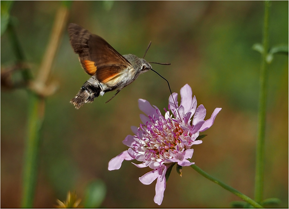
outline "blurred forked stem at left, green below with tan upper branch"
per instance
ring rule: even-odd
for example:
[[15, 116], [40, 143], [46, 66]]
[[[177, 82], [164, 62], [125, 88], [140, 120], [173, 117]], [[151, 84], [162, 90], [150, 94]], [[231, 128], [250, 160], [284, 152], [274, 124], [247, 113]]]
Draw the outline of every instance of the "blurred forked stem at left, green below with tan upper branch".
[[[42, 128], [42, 122], [45, 113], [45, 98], [44, 96], [53, 93], [51, 87], [46, 86], [47, 78], [51, 71], [51, 66], [57, 48], [60, 43], [60, 37], [66, 26], [68, 19], [68, 8], [62, 6], [59, 8], [49, 44], [47, 46], [45, 56], [42, 59], [42, 64], [39, 69], [38, 77], [36, 80], [32, 80], [32, 74], [29, 69], [22, 70], [22, 77], [28, 84], [28, 119], [27, 119], [27, 136], [26, 136], [26, 148], [23, 167], [23, 191], [22, 191], [22, 208], [32, 208], [34, 201], [34, 194], [37, 182], [37, 170], [39, 159], [39, 147], [40, 147], [40, 134]], [[8, 33], [11, 40], [12, 47], [14, 49], [17, 62], [25, 61], [23, 51], [21, 50], [20, 43], [17, 39], [14, 27], [9, 22]], [[49, 92], [49, 93], [47, 93]]]

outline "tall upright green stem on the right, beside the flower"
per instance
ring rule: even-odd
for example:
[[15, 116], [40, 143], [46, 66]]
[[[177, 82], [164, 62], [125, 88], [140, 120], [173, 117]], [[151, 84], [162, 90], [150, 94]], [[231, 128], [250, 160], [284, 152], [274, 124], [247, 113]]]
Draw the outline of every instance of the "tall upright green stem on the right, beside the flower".
[[263, 53], [260, 70], [260, 93], [259, 93], [259, 109], [258, 109], [258, 138], [256, 146], [256, 171], [255, 171], [255, 201], [261, 202], [263, 199], [264, 185], [264, 144], [265, 144], [265, 124], [266, 124], [266, 101], [267, 101], [267, 85], [268, 70], [266, 57], [268, 55], [268, 24], [269, 24], [269, 7], [270, 2], [265, 1], [264, 12], [264, 29], [263, 29]]

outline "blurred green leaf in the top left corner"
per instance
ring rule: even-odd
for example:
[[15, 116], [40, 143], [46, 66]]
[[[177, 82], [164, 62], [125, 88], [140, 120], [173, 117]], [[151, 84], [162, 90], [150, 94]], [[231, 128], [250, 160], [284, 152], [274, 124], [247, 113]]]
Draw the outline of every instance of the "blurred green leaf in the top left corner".
[[7, 29], [12, 4], [13, 1], [0, 1], [0, 35], [2, 35]]

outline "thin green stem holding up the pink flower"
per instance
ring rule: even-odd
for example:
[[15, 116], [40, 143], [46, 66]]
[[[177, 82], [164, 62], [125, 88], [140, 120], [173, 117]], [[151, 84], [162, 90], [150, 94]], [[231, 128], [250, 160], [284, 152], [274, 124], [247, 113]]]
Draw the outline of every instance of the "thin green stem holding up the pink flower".
[[204, 176], [205, 178], [211, 180], [212, 182], [218, 184], [219, 186], [223, 187], [224, 189], [228, 190], [229, 192], [237, 195], [238, 197], [240, 197], [241, 199], [243, 199], [244, 201], [246, 201], [247, 203], [251, 204], [252, 206], [254, 206], [255, 208], [263, 208], [260, 204], [258, 204], [257, 202], [255, 202], [253, 199], [251, 199], [250, 197], [247, 197], [246, 195], [244, 195], [243, 193], [239, 192], [238, 190], [234, 189], [233, 187], [230, 187], [229, 185], [221, 182], [220, 180], [214, 178], [213, 176], [209, 175], [208, 173], [206, 173], [205, 171], [203, 171], [201, 168], [199, 168], [197, 165], [193, 164], [190, 165], [195, 171], [197, 171], [199, 174], [201, 174], [202, 176]]

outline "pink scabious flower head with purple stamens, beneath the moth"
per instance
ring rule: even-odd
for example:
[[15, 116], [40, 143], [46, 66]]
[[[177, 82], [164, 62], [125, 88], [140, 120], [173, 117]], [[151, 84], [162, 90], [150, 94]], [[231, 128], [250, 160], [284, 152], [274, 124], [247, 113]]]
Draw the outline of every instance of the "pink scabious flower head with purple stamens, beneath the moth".
[[[181, 103], [178, 106], [177, 93], [169, 97], [168, 111], [163, 116], [156, 106], [144, 100], [138, 100], [138, 106], [144, 114], [140, 114], [142, 123], [140, 127], [131, 127], [134, 135], [128, 135], [123, 144], [128, 150], [123, 151], [108, 163], [108, 170], [116, 170], [121, 167], [123, 160], [136, 159], [142, 163], [137, 167], [149, 166], [152, 171], [140, 177], [143, 184], [151, 184], [155, 179], [154, 202], [162, 203], [164, 190], [166, 189], [166, 172], [175, 163], [178, 166], [189, 166], [193, 155], [194, 144], [201, 144], [196, 140], [199, 133], [210, 128], [221, 108], [216, 108], [208, 120], [204, 120], [206, 109], [203, 105], [197, 108], [197, 100], [192, 98], [192, 89], [186, 84], [181, 88]], [[173, 98], [176, 104], [173, 101]], [[192, 118], [192, 116], [194, 117]]]

